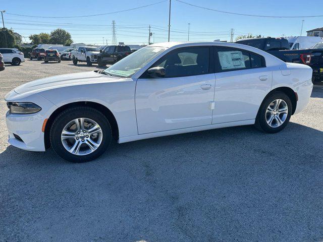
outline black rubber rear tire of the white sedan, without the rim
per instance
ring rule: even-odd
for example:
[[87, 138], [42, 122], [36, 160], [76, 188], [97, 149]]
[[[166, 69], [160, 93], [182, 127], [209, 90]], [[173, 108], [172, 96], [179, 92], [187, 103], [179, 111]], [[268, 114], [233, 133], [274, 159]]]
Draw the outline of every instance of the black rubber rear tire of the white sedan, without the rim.
[[[287, 104], [287, 107], [288, 107], [288, 112], [287, 112], [286, 119], [284, 120], [284, 123], [282, 125], [274, 128], [274, 127], [271, 127], [270, 125], [267, 124], [266, 110], [267, 110], [267, 107], [274, 100], [277, 100], [277, 99], [282, 99], [285, 101], [285, 103]], [[281, 130], [283, 130], [287, 126], [289, 119], [291, 118], [291, 115], [292, 115], [292, 108], [293, 108], [292, 102], [291, 102], [290, 98], [284, 92], [276, 91], [276, 92], [268, 94], [265, 97], [265, 99], [262, 101], [261, 106], [258, 110], [256, 120], [255, 120], [255, 127], [258, 130], [266, 132], [266, 133], [280, 132]]]

